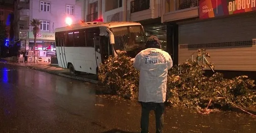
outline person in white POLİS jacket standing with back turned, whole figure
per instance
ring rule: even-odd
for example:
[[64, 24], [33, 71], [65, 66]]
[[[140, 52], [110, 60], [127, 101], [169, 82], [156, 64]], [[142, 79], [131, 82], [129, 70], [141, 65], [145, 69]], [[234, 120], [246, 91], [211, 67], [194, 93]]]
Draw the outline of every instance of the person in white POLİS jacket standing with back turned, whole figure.
[[141, 133], [148, 133], [149, 113], [155, 111], [156, 133], [162, 133], [164, 125], [167, 70], [172, 67], [169, 53], [162, 51], [156, 36], [150, 36], [133, 60], [133, 67], [140, 71], [139, 99], [142, 106]]

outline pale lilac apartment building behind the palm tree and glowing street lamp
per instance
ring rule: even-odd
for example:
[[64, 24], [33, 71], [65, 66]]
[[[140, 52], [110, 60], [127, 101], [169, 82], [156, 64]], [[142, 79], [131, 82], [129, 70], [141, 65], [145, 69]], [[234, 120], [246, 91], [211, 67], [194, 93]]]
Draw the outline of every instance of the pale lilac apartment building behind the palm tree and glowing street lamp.
[[81, 6], [76, 5], [76, 0], [17, 0], [15, 14], [18, 31], [15, 37], [21, 41], [20, 49], [29, 50], [33, 54], [35, 43], [30, 21], [39, 19], [41, 24], [35, 50], [42, 51], [38, 54], [40, 57], [50, 57], [55, 56], [56, 50], [54, 30], [67, 24], [79, 23]]

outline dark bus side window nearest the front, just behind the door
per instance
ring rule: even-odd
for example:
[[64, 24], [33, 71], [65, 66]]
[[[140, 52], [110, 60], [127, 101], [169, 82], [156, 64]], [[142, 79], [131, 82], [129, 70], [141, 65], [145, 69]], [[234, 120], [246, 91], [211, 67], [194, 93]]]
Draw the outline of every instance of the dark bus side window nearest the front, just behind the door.
[[99, 36], [100, 29], [99, 28], [89, 28], [86, 29], [86, 46], [94, 47], [94, 36]]

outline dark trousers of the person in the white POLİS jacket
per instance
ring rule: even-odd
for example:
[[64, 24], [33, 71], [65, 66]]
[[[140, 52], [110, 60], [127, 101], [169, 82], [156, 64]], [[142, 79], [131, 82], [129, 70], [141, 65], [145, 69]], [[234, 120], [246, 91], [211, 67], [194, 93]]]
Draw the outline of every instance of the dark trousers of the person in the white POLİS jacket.
[[151, 110], [155, 111], [155, 128], [156, 133], [162, 133], [164, 126], [164, 109], [165, 103], [154, 103], [154, 102], [140, 102], [141, 104], [141, 119], [140, 119], [140, 128], [141, 133], [148, 133], [148, 124], [149, 124], [149, 113]]

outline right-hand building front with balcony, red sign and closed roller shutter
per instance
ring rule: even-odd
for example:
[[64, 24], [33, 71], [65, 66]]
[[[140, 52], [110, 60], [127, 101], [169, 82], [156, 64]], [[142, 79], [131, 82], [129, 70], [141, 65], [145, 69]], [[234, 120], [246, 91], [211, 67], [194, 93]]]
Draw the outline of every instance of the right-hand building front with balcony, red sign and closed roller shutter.
[[255, 0], [237, 1], [165, 0], [162, 22], [176, 64], [205, 48], [216, 70], [256, 71]]

